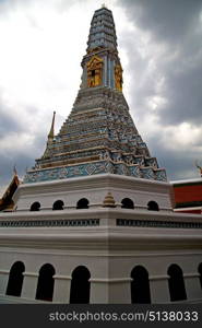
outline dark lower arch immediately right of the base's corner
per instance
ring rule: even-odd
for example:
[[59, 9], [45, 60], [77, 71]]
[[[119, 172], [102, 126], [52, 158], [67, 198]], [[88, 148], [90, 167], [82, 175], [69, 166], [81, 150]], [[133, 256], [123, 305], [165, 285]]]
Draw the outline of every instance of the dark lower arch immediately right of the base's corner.
[[132, 304], [151, 303], [148, 272], [142, 266], [136, 266], [131, 271], [131, 302]]

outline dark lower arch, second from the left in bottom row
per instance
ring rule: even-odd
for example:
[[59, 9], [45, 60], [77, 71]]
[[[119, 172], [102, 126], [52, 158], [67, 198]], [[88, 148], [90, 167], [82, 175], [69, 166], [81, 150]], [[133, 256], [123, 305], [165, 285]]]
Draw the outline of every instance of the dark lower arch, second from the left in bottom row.
[[55, 283], [52, 276], [55, 273], [55, 268], [49, 263], [46, 263], [40, 268], [36, 290], [36, 300], [52, 301]]

